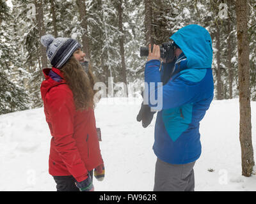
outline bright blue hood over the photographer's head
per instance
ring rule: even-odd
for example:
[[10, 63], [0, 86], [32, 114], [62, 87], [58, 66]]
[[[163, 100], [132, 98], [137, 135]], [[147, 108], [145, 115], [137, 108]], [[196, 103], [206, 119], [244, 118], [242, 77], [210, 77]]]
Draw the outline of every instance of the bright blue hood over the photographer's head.
[[211, 68], [212, 40], [208, 31], [200, 25], [182, 27], [170, 37], [187, 57], [188, 68]]

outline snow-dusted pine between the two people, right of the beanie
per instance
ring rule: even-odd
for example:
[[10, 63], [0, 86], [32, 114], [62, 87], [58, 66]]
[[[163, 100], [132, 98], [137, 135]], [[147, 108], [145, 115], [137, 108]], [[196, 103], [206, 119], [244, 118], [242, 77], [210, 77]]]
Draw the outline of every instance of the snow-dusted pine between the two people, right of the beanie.
[[121, 62], [118, 49], [118, 17], [109, 0], [93, 1], [87, 6], [92, 65], [100, 81], [108, 84], [108, 77], [116, 78]]

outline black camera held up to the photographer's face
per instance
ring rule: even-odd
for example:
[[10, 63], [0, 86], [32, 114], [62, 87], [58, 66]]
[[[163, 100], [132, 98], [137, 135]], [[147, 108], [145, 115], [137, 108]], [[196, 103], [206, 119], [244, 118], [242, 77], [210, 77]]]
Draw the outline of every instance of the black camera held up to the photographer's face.
[[[151, 48], [151, 52], [153, 47]], [[140, 47], [140, 56], [147, 57], [148, 56], [148, 47]], [[160, 47], [160, 56], [162, 59], [166, 61], [173, 61], [174, 59], [174, 42], [169, 41], [167, 43], [163, 43]]]

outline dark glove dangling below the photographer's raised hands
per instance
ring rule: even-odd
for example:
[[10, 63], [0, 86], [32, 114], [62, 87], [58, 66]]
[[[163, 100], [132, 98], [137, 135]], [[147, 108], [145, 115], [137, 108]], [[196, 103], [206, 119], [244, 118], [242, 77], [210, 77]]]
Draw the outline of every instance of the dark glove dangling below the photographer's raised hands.
[[140, 112], [137, 115], [137, 121], [140, 122], [142, 120], [142, 127], [147, 128], [154, 117], [154, 113], [150, 111], [150, 106], [141, 103]]

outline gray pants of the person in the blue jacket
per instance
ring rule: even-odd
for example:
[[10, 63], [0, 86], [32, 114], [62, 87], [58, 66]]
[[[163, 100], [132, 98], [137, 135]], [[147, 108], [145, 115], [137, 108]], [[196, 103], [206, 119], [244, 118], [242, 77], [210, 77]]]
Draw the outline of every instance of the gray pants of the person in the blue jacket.
[[169, 164], [157, 158], [154, 191], [194, 191], [195, 163]]

